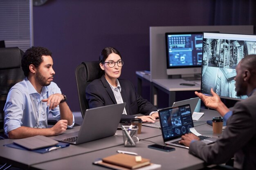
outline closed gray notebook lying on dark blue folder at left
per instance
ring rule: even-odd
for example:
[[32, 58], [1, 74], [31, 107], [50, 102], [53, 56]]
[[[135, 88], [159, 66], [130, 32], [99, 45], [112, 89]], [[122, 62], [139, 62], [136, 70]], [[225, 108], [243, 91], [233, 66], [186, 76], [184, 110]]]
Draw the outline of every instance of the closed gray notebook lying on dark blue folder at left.
[[50, 139], [45, 136], [37, 135], [33, 137], [13, 140], [13, 143], [23, 146], [28, 150], [36, 150], [36, 149], [45, 148], [48, 146], [54, 146], [58, 144], [58, 141]]

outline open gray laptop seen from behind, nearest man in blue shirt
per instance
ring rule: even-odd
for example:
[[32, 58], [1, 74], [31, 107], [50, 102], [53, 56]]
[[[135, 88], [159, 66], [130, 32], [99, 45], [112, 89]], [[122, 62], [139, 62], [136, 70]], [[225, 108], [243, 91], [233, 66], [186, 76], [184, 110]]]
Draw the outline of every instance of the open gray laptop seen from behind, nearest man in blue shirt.
[[79, 132], [59, 135], [54, 139], [77, 145], [115, 135], [125, 105], [124, 102], [87, 109]]

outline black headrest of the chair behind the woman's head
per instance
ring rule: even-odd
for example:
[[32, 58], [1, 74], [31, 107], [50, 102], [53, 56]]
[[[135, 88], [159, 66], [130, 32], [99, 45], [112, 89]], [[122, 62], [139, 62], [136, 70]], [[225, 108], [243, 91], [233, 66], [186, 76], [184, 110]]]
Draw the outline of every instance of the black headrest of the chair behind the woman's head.
[[99, 79], [101, 77], [102, 70], [99, 66], [98, 61], [82, 62], [82, 64], [85, 64], [85, 68], [87, 71], [86, 82], [92, 82], [94, 79]]

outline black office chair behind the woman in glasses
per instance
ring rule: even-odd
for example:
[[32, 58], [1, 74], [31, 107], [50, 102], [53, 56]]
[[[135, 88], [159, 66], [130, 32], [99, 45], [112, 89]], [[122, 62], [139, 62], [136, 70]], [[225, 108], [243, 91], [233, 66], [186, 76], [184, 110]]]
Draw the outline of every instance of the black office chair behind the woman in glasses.
[[84, 116], [85, 110], [89, 108], [88, 101], [85, 97], [85, 89], [90, 82], [94, 79], [99, 79], [103, 73], [98, 61], [82, 62], [76, 67], [76, 85], [82, 117]]

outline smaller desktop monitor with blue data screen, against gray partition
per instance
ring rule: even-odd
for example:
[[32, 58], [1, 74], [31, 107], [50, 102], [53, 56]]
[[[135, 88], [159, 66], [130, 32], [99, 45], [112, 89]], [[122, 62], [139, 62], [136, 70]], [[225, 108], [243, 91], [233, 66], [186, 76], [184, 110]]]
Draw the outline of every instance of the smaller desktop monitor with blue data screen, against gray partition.
[[167, 75], [201, 73], [202, 32], [165, 33]]

